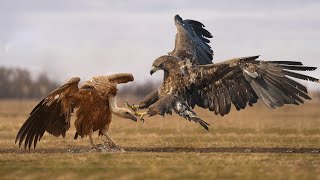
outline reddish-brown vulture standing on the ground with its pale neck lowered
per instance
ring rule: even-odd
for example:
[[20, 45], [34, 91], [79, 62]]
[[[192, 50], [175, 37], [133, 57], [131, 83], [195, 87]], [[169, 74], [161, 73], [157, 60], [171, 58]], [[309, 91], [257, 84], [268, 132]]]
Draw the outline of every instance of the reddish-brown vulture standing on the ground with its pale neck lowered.
[[93, 132], [99, 130], [99, 136], [106, 137], [106, 145], [114, 149], [120, 148], [108, 134], [108, 129], [112, 114], [137, 121], [134, 112], [127, 107], [118, 107], [116, 100], [117, 84], [133, 80], [132, 74], [128, 73], [96, 76], [79, 88], [80, 78], [71, 78], [34, 107], [20, 128], [15, 142], [19, 141], [19, 147], [24, 142], [24, 148], [30, 150], [32, 144], [36, 148], [45, 131], [64, 138], [70, 128], [71, 115], [77, 108], [74, 139], [89, 136], [93, 148], [101, 151], [102, 148], [92, 139]]

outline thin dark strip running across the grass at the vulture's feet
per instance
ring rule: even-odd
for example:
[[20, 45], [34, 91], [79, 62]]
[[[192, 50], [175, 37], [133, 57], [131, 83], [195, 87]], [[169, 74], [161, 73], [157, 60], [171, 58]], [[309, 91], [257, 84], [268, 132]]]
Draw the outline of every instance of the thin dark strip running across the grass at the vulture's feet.
[[[154, 153], [294, 153], [320, 154], [320, 148], [285, 148], [285, 147], [123, 147], [126, 152], [154, 152]], [[24, 150], [18, 148], [0, 148], [0, 154], [55, 154], [55, 153], [88, 153], [95, 152], [88, 147], [71, 148], [41, 148]]]

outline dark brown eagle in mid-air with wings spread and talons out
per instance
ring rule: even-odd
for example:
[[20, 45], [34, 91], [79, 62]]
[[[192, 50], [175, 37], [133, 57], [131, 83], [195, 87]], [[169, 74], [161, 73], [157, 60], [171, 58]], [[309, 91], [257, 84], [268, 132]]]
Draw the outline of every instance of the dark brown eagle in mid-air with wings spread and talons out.
[[[253, 106], [260, 99], [268, 108], [285, 104], [299, 105], [310, 100], [307, 88], [293, 78], [318, 82], [319, 79], [294, 71], [313, 71], [297, 61], [264, 61], [259, 56], [233, 58], [212, 63], [212, 35], [196, 20], [174, 17], [177, 28], [174, 50], [157, 58], [150, 74], [164, 71], [159, 89], [148, 94], [138, 105], [130, 105], [136, 115], [171, 114], [172, 111], [208, 130], [209, 124], [193, 108], [214, 111], [224, 116], [232, 104], [237, 110]], [[139, 109], [147, 112], [138, 112]]]

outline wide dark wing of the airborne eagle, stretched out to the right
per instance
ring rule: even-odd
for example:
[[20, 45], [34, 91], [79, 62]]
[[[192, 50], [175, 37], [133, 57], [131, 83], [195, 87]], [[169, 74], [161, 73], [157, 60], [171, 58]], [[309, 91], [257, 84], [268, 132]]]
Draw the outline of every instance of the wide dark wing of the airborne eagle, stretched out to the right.
[[225, 115], [231, 103], [237, 110], [261, 99], [269, 108], [284, 104], [300, 104], [311, 99], [305, 86], [291, 77], [319, 82], [319, 79], [293, 71], [313, 71], [316, 67], [303, 66], [295, 61], [259, 61], [259, 56], [236, 58], [214, 65], [194, 68], [194, 91], [189, 95], [191, 106], [197, 104], [216, 114]]

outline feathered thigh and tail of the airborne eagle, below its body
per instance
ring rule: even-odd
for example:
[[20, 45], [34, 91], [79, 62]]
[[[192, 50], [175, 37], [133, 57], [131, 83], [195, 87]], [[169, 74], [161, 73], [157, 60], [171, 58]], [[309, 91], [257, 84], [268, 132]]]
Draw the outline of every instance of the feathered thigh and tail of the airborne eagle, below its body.
[[148, 109], [148, 114], [150, 116], [157, 114], [164, 116], [165, 114], [172, 114], [172, 110], [189, 121], [199, 123], [206, 130], [209, 129], [208, 126], [210, 124], [199, 118], [182, 98], [171, 94], [161, 97], [156, 103], [151, 105]]

